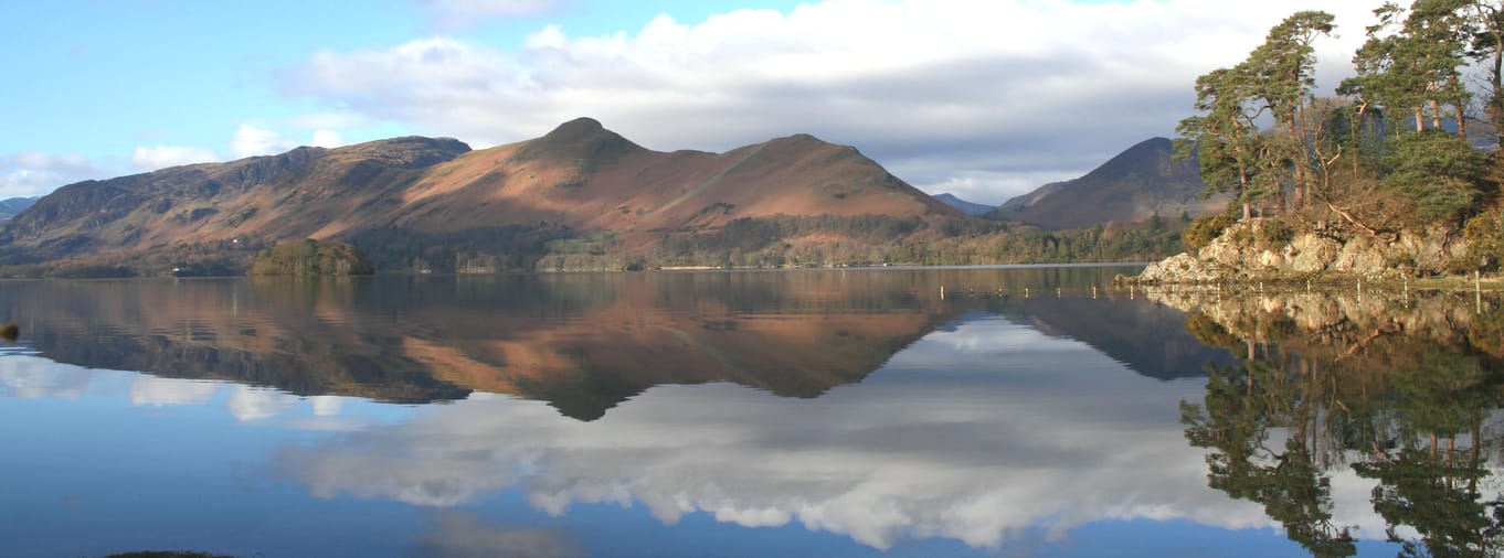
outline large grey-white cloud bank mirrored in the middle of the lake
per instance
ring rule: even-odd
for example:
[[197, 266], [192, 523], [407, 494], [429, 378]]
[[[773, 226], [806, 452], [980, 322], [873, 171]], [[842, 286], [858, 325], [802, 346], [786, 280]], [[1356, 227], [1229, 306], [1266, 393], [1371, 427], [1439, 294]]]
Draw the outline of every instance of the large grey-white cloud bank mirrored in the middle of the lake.
[[1021, 339], [1030, 333], [966, 322], [948, 334], [1009, 348], [952, 351], [935, 369], [946, 348], [926, 338], [862, 384], [814, 400], [660, 386], [581, 423], [534, 402], [471, 399], [290, 447], [280, 460], [319, 496], [457, 506], [520, 486], [552, 514], [641, 502], [666, 524], [686, 513], [799, 522], [874, 548], [902, 537], [996, 548], [1029, 530], [1062, 537], [1102, 519], [1274, 525], [1259, 506], [1206, 488], [1203, 453], [1178, 422], [1179, 400], [1199, 399], [1200, 382], [1142, 378], [1081, 345], [1062, 354], [1060, 340]]

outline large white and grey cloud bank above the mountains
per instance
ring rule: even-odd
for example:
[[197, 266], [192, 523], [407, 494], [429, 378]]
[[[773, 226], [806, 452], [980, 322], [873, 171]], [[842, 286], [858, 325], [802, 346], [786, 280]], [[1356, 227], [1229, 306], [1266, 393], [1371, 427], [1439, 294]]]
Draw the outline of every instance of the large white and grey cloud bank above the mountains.
[[[663, 150], [811, 132], [911, 168], [898, 174], [910, 183], [972, 177], [975, 196], [1002, 201], [1039, 186], [1030, 180], [1041, 172], [1080, 176], [1172, 134], [1197, 75], [1241, 62], [1305, 8], [829, 0], [695, 24], [659, 16], [635, 33], [573, 38], [549, 26], [516, 51], [445, 36], [322, 51], [286, 87], [478, 146], [578, 116]], [[1322, 8], [1342, 26], [1342, 39], [1321, 44], [1330, 88], [1373, 6]]]

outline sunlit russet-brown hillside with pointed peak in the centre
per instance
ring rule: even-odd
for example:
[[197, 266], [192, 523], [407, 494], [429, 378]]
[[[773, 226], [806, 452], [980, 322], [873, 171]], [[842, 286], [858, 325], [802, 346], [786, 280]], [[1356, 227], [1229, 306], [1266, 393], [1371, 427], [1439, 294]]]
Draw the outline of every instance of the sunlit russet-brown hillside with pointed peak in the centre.
[[[615, 231], [629, 246], [737, 218], [958, 216], [856, 148], [809, 135], [728, 153], [662, 153], [590, 118], [439, 165], [394, 212], [399, 226], [424, 232], [477, 222], [550, 222]], [[343, 231], [331, 225], [320, 234]]]

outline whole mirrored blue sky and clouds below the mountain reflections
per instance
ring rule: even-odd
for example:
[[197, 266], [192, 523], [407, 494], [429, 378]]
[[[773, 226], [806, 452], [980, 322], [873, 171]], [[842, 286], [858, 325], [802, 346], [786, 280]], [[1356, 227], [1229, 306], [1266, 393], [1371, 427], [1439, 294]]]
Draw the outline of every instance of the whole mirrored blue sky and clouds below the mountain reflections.
[[[0, 540], [23, 556], [1304, 554], [1208, 488], [1179, 414], [1205, 378], [1134, 370], [1048, 300], [988, 304], [818, 396], [696, 378], [591, 420], [483, 390], [417, 405], [86, 368], [23, 342], [0, 351], [0, 422], [20, 426], [0, 429]], [[1393, 555], [1375, 482], [1339, 468], [1331, 486], [1361, 555]]]

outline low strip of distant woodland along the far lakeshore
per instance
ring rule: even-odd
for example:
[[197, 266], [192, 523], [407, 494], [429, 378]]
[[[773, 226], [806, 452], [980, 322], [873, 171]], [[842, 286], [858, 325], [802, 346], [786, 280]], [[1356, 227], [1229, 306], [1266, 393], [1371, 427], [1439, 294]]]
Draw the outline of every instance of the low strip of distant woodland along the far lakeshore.
[[645, 249], [624, 246], [614, 232], [555, 226], [505, 228], [487, 242], [408, 237], [364, 244], [381, 246], [368, 252], [381, 270], [441, 273], [1146, 261], [1179, 252], [1190, 220], [1182, 214], [1047, 231], [981, 218], [773, 216], [662, 231]]

